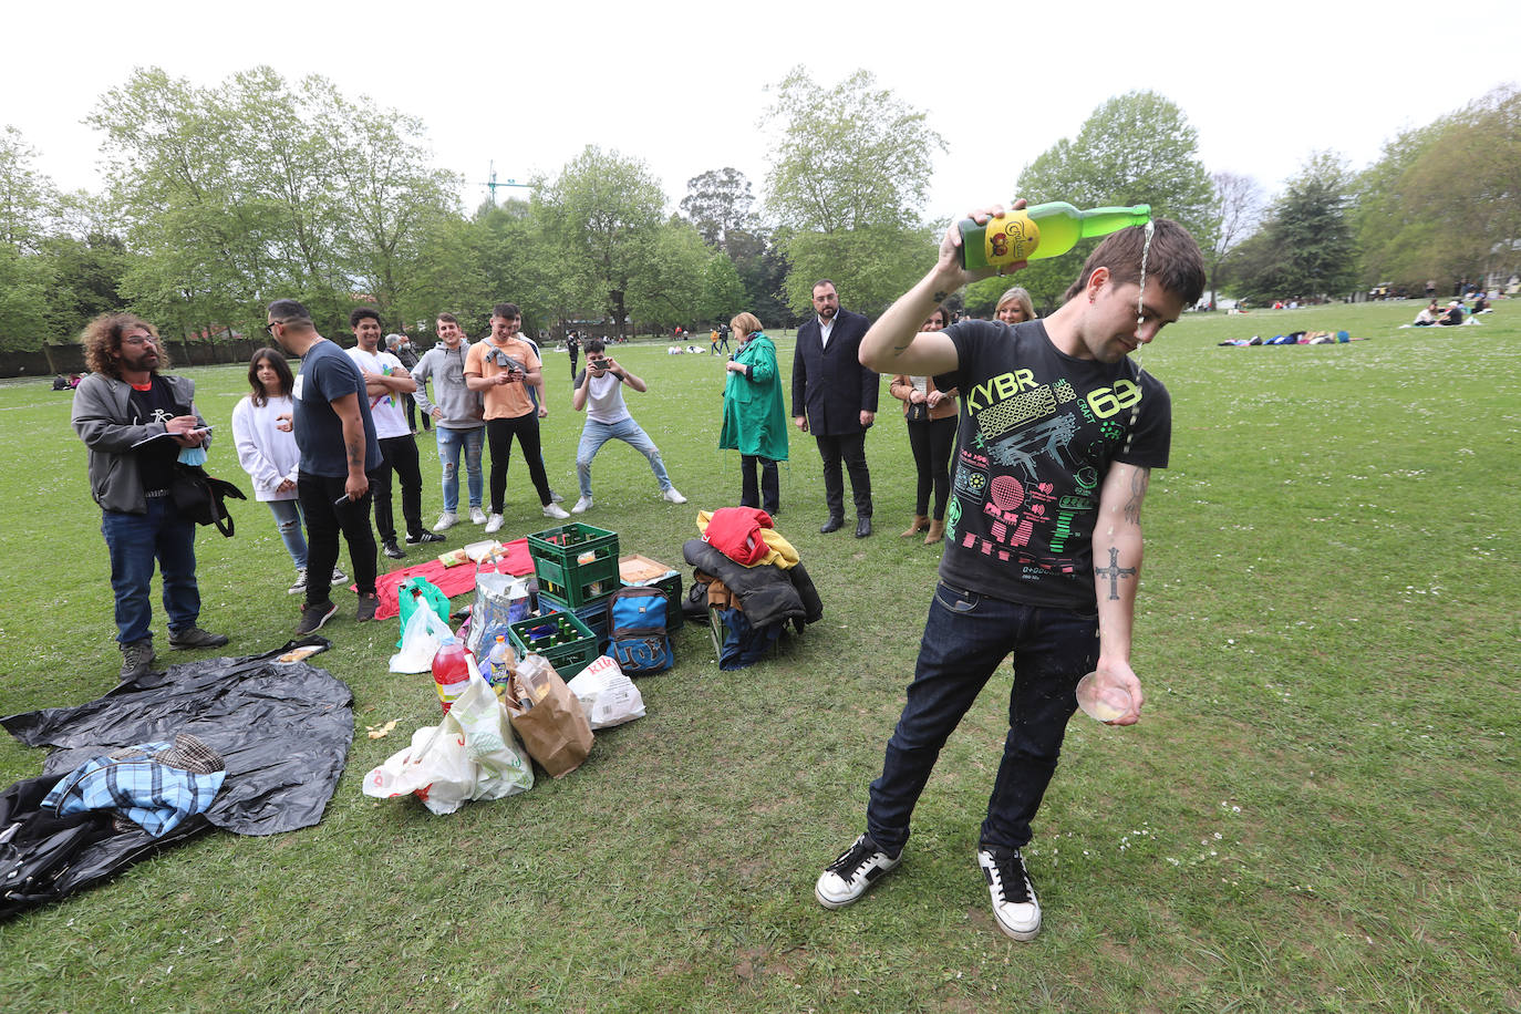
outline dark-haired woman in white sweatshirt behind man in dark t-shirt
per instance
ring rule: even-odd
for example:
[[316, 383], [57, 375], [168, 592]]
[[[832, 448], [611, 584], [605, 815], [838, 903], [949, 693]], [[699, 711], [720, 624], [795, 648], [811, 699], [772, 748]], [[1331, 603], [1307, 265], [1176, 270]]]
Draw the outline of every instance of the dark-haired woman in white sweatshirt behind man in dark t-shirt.
[[[301, 452], [291, 432], [294, 406], [291, 389], [295, 379], [284, 353], [260, 348], [248, 363], [248, 394], [233, 407], [233, 442], [237, 464], [254, 480], [254, 499], [269, 505], [275, 528], [291, 561], [295, 584], [286, 591], [306, 591], [306, 535], [301, 531], [301, 503], [297, 500], [295, 479]], [[333, 567], [333, 584], [348, 581], [348, 575]]]

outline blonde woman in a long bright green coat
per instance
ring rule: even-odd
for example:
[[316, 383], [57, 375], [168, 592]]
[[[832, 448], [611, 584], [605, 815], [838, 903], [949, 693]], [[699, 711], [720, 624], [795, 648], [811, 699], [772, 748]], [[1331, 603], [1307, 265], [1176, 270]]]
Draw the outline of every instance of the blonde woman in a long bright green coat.
[[780, 509], [776, 462], [786, 461], [786, 412], [776, 345], [760, 330], [754, 313], [741, 313], [729, 327], [739, 347], [726, 363], [729, 382], [718, 445], [739, 452], [739, 505], [776, 514]]

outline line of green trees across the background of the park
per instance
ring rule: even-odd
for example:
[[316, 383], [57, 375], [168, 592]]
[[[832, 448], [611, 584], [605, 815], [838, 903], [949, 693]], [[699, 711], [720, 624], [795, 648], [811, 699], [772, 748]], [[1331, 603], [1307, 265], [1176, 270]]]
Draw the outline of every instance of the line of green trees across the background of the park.
[[[946, 225], [923, 211], [945, 141], [867, 71], [824, 87], [795, 68], [771, 91], [760, 196], [715, 167], [674, 198], [636, 155], [589, 144], [554, 176], [465, 208], [464, 176], [432, 164], [418, 117], [321, 76], [256, 67], [196, 87], [138, 68], [88, 117], [102, 193], [59, 192], [26, 138], [0, 129], [0, 356], [41, 362], [44, 347], [123, 307], [170, 339], [252, 341], [278, 296], [303, 299], [329, 333], [370, 303], [386, 330], [424, 347], [438, 312], [481, 334], [500, 299], [555, 337], [669, 333], [742, 309], [789, 327], [820, 277], [878, 313], [923, 272]], [[1185, 112], [1133, 91], [1025, 166], [1018, 193], [1150, 204], [1205, 246], [1211, 298], [1504, 284], [1521, 266], [1521, 91], [1408, 129], [1361, 170], [1311, 152], [1275, 195], [1211, 173]], [[1042, 261], [1021, 283], [1048, 310], [1069, 275], [1071, 263]], [[1001, 289], [992, 278], [957, 303], [987, 312]]]

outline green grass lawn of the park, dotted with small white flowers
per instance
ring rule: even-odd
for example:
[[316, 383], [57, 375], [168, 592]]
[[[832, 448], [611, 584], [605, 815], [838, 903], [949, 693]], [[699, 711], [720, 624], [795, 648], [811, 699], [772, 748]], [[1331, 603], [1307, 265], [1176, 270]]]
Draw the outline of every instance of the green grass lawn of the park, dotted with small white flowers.
[[[567, 778], [441, 818], [360, 794], [438, 701], [430, 678], [386, 672], [395, 623], [356, 623], [344, 593], [316, 661], [353, 689], [359, 736], [324, 821], [210, 833], [0, 924], [0, 1008], [1521, 1009], [1521, 304], [1398, 330], [1418, 309], [1189, 316], [1144, 351], [1174, 401], [1144, 518], [1148, 701], [1129, 730], [1072, 719], [1028, 850], [1034, 943], [998, 933], [975, 865], [1007, 670], [948, 743], [903, 867], [850, 909], [812, 898], [862, 825], [938, 559], [896, 538], [913, 465], [884, 383], [870, 540], [818, 534], [818, 458], [794, 438], [779, 528], [826, 616], [780, 657], [722, 673], [687, 625], [675, 669], [640, 681], [648, 718], [599, 734]], [[1215, 345], [1302, 328], [1370, 341]], [[692, 502], [659, 500], [614, 442], [586, 520], [681, 564], [697, 508], [739, 494], [738, 458], [715, 450], [721, 360], [616, 354], [649, 382], [630, 407]], [[245, 479], [243, 368], [186, 372], [225, 435], [213, 473]], [[546, 374], [545, 459], [569, 503], [566, 357]], [[68, 395], [0, 386], [0, 713], [88, 701], [120, 655]], [[420, 445], [432, 521], [438, 461]], [[520, 461], [508, 500], [503, 537], [551, 524]], [[234, 511], [236, 538], [198, 540], [202, 623], [254, 654], [291, 635], [297, 597], [266, 508]], [[155, 622], [163, 651], [157, 602]], [[6, 784], [41, 762], [0, 740]]]

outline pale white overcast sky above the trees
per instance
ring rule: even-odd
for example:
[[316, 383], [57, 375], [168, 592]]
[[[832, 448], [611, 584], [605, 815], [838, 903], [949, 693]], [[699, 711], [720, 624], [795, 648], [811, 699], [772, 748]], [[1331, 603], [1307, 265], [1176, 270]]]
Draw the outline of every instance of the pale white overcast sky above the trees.
[[[1110, 96], [1150, 88], [1199, 131], [1211, 172], [1273, 193], [1319, 149], [1352, 169], [1384, 141], [1521, 78], [1521, 3], [27, 3], [5, 15], [0, 123], [37, 167], [100, 190], [81, 120], [134, 67], [213, 85], [269, 64], [415, 114], [467, 208], [499, 179], [555, 175], [587, 143], [648, 163], [672, 204], [735, 166], [762, 192], [759, 122], [794, 65], [853, 70], [948, 141], [931, 217], [1013, 198], [1021, 169]], [[1024, 196], [1024, 195], [1022, 195]], [[1062, 195], [1027, 195], [1060, 199]]]

